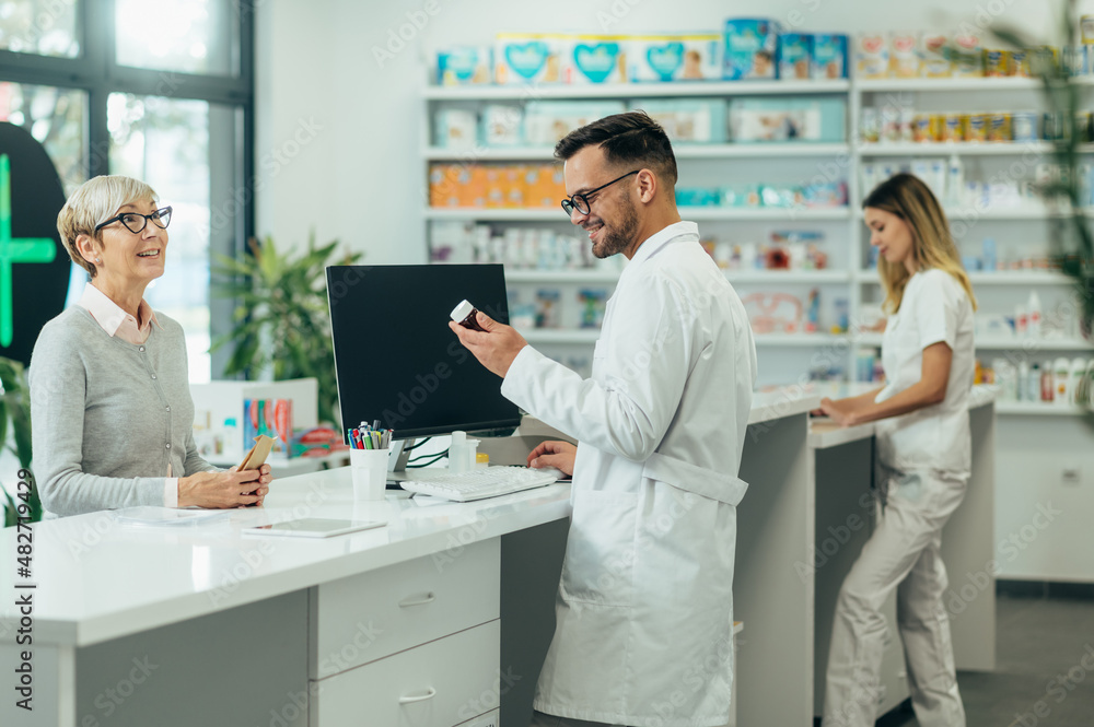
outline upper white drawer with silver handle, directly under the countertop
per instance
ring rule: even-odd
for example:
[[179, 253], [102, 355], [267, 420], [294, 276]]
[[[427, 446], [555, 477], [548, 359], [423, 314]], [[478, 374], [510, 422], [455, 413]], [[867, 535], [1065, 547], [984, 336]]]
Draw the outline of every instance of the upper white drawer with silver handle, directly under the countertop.
[[309, 677], [329, 677], [499, 618], [500, 539], [442, 555], [311, 589]]

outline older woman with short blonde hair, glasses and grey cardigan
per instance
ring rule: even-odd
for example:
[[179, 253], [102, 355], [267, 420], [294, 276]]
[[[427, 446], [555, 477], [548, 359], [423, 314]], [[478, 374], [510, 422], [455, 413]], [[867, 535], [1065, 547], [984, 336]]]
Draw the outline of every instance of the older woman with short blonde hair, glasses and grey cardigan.
[[268, 465], [221, 471], [194, 445], [183, 329], [143, 300], [163, 274], [170, 220], [151, 187], [123, 176], [86, 181], [57, 216], [91, 283], [31, 357], [34, 471], [56, 515], [260, 505], [269, 492]]

